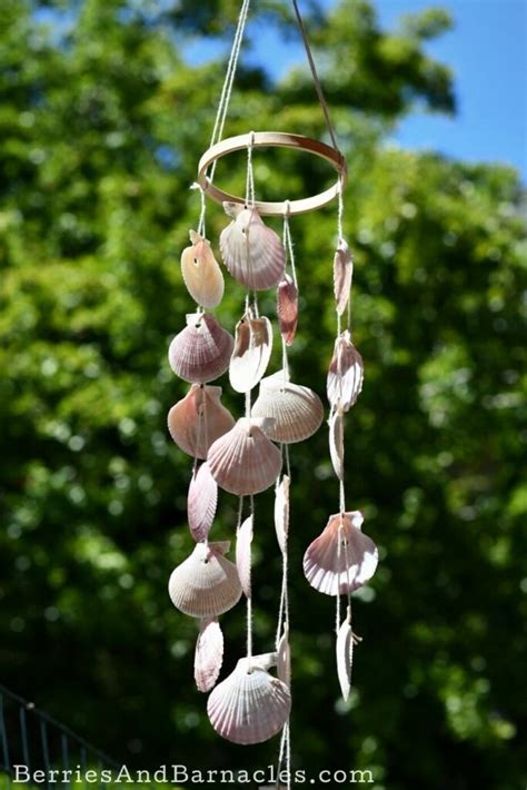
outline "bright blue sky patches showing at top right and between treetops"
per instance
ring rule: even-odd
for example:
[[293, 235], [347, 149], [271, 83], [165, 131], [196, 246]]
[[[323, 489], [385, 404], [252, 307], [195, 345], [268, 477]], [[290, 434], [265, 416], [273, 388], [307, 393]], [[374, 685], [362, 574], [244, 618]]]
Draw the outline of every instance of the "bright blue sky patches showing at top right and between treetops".
[[[324, 0], [330, 7], [335, 0]], [[347, 0], [352, 2], [352, 0]], [[454, 71], [458, 112], [454, 119], [414, 112], [395, 140], [468, 161], [514, 165], [527, 181], [527, 0], [377, 0], [381, 27], [430, 6], [446, 8], [454, 29], [427, 51]], [[213, 55], [203, 41], [189, 50], [192, 60]], [[279, 75], [304, 58], [301, 43], [268, 34], [251, 60]]]

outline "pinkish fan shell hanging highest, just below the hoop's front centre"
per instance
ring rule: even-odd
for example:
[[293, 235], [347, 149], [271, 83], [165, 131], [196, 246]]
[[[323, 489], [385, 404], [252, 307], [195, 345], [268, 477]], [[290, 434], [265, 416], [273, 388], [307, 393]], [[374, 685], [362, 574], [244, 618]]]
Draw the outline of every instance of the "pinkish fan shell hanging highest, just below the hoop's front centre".
[[256, 208], [223, 204], [233, 220], [221, 233], [220, 249], [232, 277], [251, 290], [265, 290], [284, 277], [286, 250]]

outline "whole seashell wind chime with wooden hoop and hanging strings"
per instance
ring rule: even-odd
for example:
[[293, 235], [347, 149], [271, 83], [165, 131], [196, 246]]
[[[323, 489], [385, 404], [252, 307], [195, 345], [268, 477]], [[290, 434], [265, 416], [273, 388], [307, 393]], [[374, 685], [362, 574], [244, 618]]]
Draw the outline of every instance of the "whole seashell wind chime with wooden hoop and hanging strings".
[[[338, 244], [334, 259], [337, 337], [327, 377], [329, 450], [339, 481], [338, 512], [308, 546], [304, 573], [315, 590], [337, 601], [337, 672], [342, 695], [351, 685], [354, 645], [359, 638], [351, 628], [351, 593], [375, 573], [377, 549], [361, 532], [362, 515], [348, 511], [345, 497], [345, 414], [362, 387], [362, 359], [351, 339], [350, 294], [352, 258], [342, 236], [342, 192], [346, 162], [339, 152], [329, 120], [304, 23], [294, 7], [308, 53], [332, 145], [287, 132], [249, 132], [221, 139], [228, 102], [249, 10], [243, 0], [229, 61], [211, 146], [199, 164], [201, 216], [198, 230], [190, 230], [190, 246], [181, 255], [185, 285], [196, 302], [187, 325], [169, 348], [173, 373], [190, 384], [188, 394], [169, 412], [173, 442], [193, 458], [188, 490], [188, 523], [195, 549], [172, 572], [169, 594], [173, 605], [199, 621], [195, 679], [202, 692], [211, 692], [207, 711], [215, 730], [233, 743], [251, 744], [282, 732], [279, 761], [290, 763], [289, 715], [290, 650], [288, 606], [288, 533], [291, 475], [289, 445], [314, 435], [324, 421], [324, 405], [309, 387], [291, 381], [288, 347], [294, 343], [298, 318], [298, 280], [289, 219], [338, 198]], [[262, 203], [255, 199], [252, 150], [280, 146], [300, 148], [329, 161], [338, 174], [336, 184], [320, 195], [296, 201]], [[247, 190], [243, 198], [213, 185], [217, 160], [236, 150], [247, 150]], [[205, 234], [206, 196], [222, 203], [230, 223], [221, 233], [219, 248], [229, 275], [247, 289], [245, 308], [235, 336], [211, 313], [223, 296], [223, 275]], [[262, 216], [281, 216], [280, 238]], [[282, 366], [268, 373], [274, 330], [271, 320], [258, 310], [258, 293], [274, 288], [282, 346]], [[347, 314], [346, 327], [342, 319]], [[228, 372], [230, 386], [245, 395], [245, 416], [235, 421], [221, 404], [221, 387], [215, 382]], [[252, 393], [259, 387], [258, 397]], [[258, 533], [255, 496], [275, 486], [275, 526], [282, 555], [282, 586], [274, 650], [258, 654], [252, 645], [251, 543]], [[218, 488], [239, 497], [235, 561], [227, 557], [229, 541], [209, 541], [218, 504]], [[266, 517], [262, 517], [265, 521]], [[247, 651], [233, 672], [217, 683], [221, 670], [223, 636], [219, 616], [241, 598], [247, 604]], [[346, 612], [341, 616], [341, 596]], [[289, 787], [289, 784], [288, 784]]]

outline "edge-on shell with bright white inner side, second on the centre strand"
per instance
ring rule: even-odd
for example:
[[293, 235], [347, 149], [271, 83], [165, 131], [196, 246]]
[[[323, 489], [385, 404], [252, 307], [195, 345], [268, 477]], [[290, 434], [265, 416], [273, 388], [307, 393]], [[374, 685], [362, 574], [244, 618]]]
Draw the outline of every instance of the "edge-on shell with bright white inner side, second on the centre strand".
[[256, 387], [266, 372], [272, 350], [272, 326], [268, 318], [245, 316], [236, 327], [229, 379], [237, 393]]

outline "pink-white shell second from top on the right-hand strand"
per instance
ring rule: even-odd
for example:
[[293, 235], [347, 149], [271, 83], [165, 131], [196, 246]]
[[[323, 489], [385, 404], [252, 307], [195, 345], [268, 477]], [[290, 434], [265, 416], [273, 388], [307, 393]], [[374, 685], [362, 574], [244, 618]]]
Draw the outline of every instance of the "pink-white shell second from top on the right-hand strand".
[[334, 356], [328, 371], [327, 392], [331, 406], [336, 408], [340, 405], [342, 411], [348, 412], [360, 395], [362, 381], [362, 357], [346, 329], [335, 340]]

